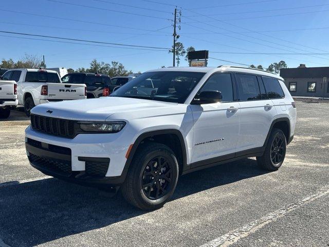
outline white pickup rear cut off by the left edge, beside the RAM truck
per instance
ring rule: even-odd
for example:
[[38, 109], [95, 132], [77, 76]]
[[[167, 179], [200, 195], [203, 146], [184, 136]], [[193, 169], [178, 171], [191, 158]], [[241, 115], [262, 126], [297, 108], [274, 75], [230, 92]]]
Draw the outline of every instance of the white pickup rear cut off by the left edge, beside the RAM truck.
[[15, 108], [18, 102], [17, 83], [0, 81], [0, 118], [8, 118], [11, 108]]

